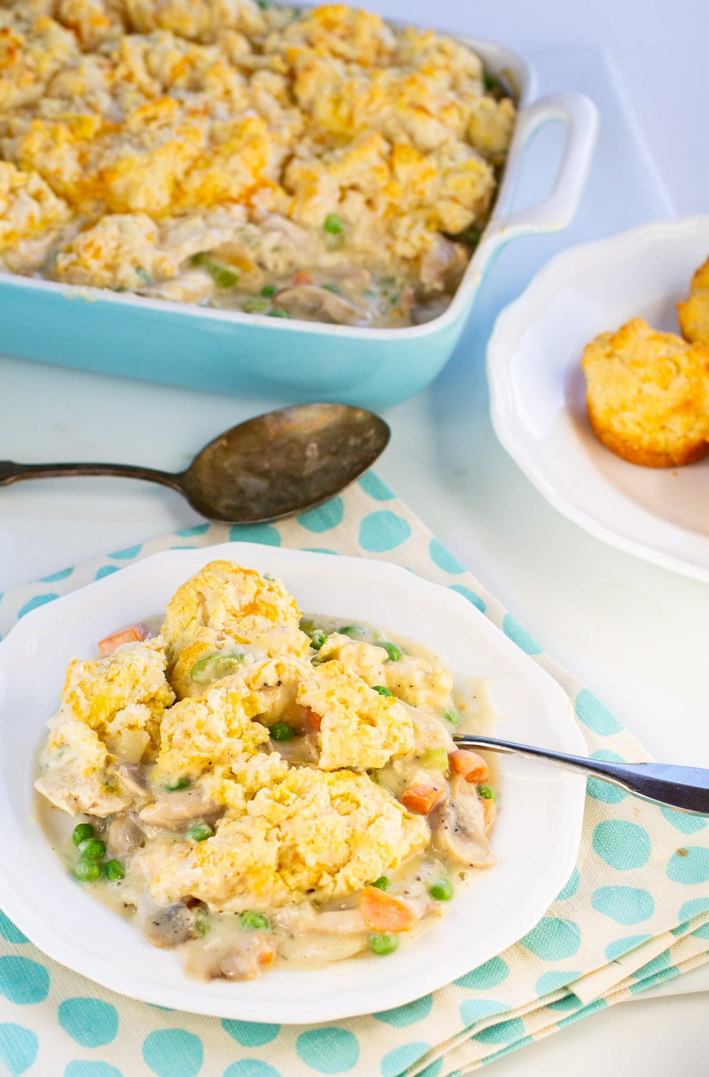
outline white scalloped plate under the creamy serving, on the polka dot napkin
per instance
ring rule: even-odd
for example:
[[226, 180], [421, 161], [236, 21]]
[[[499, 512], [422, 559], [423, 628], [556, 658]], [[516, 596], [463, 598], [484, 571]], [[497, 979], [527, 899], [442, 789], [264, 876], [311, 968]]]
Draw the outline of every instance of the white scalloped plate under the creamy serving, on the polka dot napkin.
[[0, 908], [51, 957], [106, 988], [195, 1013], [279, 1023], [401, 1006], [515, 942], [571, 875], [585, 782], [506, 756], [493, 831], [499, 866], [481, 872], [441, 924], [386, 959], [278, 970], [249, 983], [198, 983], [183, 975], [176, 954], [154, 949], [72, 879], [37, 822], [32, 791], [65, 667], [74, 655], [94, 654], [116, 625], [158, 613], [214, 558], [278, 576], [302, 610], [372, 621], [437, 651], [455, 670], [489, 679], [504, 716], [501, 736], [585, 754], [559, 685], [453, 590], [380, 561], [250, 543], [157, 554], [32, 611], [0, 644]]

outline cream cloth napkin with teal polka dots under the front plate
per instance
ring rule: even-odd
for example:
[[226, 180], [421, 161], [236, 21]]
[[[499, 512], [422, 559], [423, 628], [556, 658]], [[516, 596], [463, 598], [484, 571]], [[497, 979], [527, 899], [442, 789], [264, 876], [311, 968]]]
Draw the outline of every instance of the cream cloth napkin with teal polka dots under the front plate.
[[[140, 557], [228, 538], [366, 554], [454, 588], [556, 677], [594, 757], [649, 758], [372, 473], [282, 523], [201, 523], [16, 588], [0, 596], [0, 635]], [[0, 1065], [38, 1077], [456, 1077], [703, 964], [708, 949], [709, 819], [592, 779], [579, 862], [540, 923], [455, 983], [381, 1013], [302, 1027], [158, 1009], [50, 961], [0, 917]]]

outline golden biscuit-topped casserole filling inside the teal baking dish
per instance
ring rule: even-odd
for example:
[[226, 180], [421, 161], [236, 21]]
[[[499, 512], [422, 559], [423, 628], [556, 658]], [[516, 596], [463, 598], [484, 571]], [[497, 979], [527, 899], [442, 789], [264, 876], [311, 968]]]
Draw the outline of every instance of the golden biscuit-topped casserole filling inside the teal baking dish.
[[449, 304], [515, 121], [344, 4], [0, 0], [0, 269], [353, 326]]

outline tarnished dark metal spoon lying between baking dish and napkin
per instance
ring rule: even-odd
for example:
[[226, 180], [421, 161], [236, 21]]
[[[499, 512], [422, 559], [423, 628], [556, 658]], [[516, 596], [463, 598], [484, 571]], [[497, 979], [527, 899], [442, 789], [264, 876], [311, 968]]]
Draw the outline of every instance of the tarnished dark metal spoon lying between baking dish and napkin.
[[261, 523], [314, 508], [353, 482], [384, 452], [384, 419], [345, 404], [268, 411], [220, 434], [186, 471], [134, 464], [18, 464], [0, 461], [0, 486], [24, 478], [113, 475], [179, 490], [211, 520]]

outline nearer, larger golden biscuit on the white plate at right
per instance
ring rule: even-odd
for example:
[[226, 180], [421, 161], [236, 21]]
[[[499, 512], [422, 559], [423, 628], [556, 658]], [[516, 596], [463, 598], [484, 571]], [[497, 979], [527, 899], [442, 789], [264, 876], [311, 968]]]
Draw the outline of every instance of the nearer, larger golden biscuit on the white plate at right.
[[709, 348], [635, 318], [586, 345], [582, 366], [590, 425], [611, 452], [675, 467], [709, 451]]

